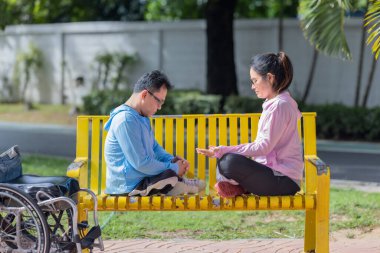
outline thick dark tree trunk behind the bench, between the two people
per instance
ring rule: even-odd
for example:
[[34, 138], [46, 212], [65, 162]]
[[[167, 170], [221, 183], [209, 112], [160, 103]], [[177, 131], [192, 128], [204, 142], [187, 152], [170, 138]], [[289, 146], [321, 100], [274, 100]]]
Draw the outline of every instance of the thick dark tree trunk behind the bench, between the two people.
[[207, 93], [238, 94], [234, 59], [233, 15], [236, 0], [209, 0], [207, 23]]

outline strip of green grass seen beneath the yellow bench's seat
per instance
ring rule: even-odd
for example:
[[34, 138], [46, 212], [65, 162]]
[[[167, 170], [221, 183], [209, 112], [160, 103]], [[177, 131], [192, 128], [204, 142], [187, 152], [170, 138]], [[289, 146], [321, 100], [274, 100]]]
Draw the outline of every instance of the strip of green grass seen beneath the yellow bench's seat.
[[293, 238], [303, 233], [301, 212], [108, 212], [101, 213], [103, 226], [111, 215], [103, 230], [106, 239]]

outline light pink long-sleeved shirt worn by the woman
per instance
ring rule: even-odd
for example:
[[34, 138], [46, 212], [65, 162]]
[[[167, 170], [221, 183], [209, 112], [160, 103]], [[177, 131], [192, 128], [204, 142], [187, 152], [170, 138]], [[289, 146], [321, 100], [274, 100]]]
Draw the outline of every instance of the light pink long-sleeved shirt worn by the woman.
[[256, 140], [236, 146], [219, 146], [215, 157], [226, 153], [252, 157], [274, 171], [300, 181], [303, 176], [302, 146], [297, 130], [301, 117], [297, 102], [285, 91], [263, 103]]

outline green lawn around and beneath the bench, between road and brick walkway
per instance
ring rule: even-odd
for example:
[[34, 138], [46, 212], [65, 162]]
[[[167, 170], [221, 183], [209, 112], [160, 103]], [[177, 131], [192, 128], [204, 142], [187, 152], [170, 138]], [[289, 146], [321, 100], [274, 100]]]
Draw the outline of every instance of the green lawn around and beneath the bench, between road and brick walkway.
[[[24, 173], [65, 175], [71, 161], [26, 156]], [[126, 238], [297, 238], [303, 236], [304, 212], [102, 212], [100, 224], [105, 239]], [[380, 226], [380, 193], [332, 189], [330, 230], [368, 231]]]

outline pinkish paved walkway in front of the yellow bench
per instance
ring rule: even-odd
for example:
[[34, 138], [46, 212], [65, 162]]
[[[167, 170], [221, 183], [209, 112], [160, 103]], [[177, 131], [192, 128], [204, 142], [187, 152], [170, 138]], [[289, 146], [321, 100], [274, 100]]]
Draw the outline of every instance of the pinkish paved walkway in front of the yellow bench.
[[[100, 252], [95, 250], [94, 252]], [[253, 240], [151, 240], [134, 239], [124, 241], [105, 241], [105, 252], [223, 252], [223, 253], [285, 253], [303, 252], [302, 239], [253, 239]], [[377, 238], [330, 239], [331, 253], [379, 253], [380, 234]]]

